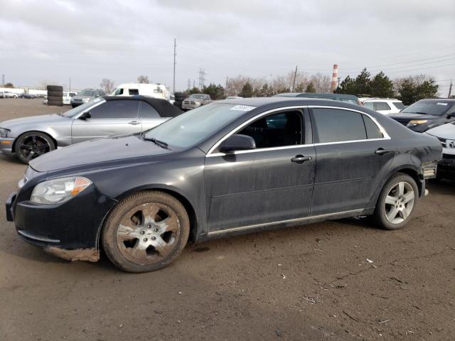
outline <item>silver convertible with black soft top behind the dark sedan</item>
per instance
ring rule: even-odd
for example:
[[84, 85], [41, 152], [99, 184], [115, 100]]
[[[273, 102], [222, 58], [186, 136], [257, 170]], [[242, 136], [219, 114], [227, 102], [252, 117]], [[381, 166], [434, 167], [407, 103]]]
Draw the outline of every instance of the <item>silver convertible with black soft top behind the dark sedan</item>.
[[181, 113], [164, 99], [98, 97], [63, 114], [0, 122], [0, 152], [28, 163], [60, 146], [146, 131]]

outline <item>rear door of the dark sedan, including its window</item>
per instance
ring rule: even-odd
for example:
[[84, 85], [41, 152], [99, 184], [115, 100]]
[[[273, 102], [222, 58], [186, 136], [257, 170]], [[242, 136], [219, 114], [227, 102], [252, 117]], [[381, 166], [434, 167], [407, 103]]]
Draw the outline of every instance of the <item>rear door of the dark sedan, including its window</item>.
[[311, 215], [364, 208], [395, 156], [387, 132], [354, 109], [311, 107], [311, 122], [316, 148]]

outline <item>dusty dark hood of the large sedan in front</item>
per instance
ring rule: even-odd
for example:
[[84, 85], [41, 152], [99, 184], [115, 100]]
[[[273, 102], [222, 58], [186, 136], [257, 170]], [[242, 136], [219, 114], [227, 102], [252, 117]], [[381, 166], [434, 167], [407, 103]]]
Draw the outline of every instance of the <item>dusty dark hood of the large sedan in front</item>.
[[105, 139], [73, 144], [45, 153], [30, 162], [31, 168], [38, 172], [57, 171], [63, 168], [73, 168], [87, 164], [97, 164], [106, 161], [157, 156], [173, 151], [144, 141], [139, 135], [112, 136]]

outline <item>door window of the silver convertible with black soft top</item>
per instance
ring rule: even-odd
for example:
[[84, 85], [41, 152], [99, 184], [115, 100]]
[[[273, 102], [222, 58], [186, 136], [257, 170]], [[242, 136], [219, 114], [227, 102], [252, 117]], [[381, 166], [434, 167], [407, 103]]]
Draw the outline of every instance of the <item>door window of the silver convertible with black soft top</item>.
[[139, 101], [107, 101], [90, 110], [92, 119], [135, 119], [139, 111]]

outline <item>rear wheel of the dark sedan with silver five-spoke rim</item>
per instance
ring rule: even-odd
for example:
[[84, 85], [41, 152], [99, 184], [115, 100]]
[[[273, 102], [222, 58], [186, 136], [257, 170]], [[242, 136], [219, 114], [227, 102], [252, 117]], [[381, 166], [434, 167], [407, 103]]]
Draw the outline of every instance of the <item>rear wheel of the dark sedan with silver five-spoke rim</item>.
[[400, 229], [414, 214], [419, 189], [410, 175], [397, 173], [392, 176], [379, 195], [374, 220], [382, 228]]

